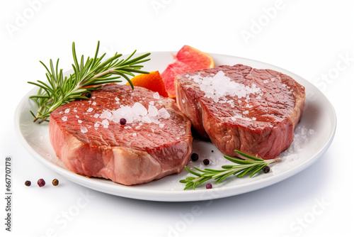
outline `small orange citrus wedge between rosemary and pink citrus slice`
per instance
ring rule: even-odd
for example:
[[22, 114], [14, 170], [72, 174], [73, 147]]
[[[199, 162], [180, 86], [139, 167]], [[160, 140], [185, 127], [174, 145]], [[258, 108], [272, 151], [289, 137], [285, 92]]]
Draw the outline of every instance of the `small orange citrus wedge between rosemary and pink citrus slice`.
[[130, 81], [132, 81], [132, 84], [136, 87], [144, 87], [153, 92], [159, 92], [161, 97], [169, 97], [159, 71], [137, 75], [130, 79]]

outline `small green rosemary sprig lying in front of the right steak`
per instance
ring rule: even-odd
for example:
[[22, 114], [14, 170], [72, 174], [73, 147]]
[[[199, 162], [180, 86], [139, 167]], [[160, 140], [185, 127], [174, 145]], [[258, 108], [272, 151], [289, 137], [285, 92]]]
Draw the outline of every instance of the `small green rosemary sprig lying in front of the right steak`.
[[184, 189], [188, 189], [190, 187], [193, 187], [195, 189], [196, 186], [202, 184], [203, 182], [207, 180], [214, 179], [217, 181], [217, 183], [222, 182], [224, 178], [230, 176], [230, 175], [236, 175], [236, 177], [242, 177], [248, 173], [251, 172], [250, 177], [253, 177], [256, 175], [258, 172], [260, 172], [263, 167], [265, 167], [268, 164], [271, 164], [273, 162], [278, 162], [281, 160], [281, 158], [275, 158], [273, 160], [263, 160], [261, 158], [255, 158], [251, 155], [247, 155], [245, 153], [242, 153], [239, 150], [235, 150], [236, 153], [239, 155], [242, 155], [244, 158], [249, 158], [249, 160], [243, 160], [240, 158], [232, 158], [228, 155], [224, 155], [224, 158], [227, 160], [234, 162], [238, 165], [222, 165], [222, 170], [214, 170], [214, 169], [209, 169], [205, 168], [204, 170], [200, 170], [197, 167], [194, 167], [195, 170], [199, 171], [193, 171], [190, 170], [188, 167], [185, 166], [185, 170], [190, 172], [192, 175], [195, 175], [196, 177], [189, 176], [186, 177], [185, 180], [180, 180], [179, 182], [185, 184]]

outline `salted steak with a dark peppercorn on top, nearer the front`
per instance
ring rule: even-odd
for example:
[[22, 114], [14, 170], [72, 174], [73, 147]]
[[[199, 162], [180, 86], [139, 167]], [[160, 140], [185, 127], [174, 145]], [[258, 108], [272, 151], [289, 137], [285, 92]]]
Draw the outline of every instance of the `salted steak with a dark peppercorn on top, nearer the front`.
[[53, 111], [50, 141], [72, 172], [141, 184], [183, 170], [192, 150], [190, 126], [173, 99], [108, 84], [88, 101]]

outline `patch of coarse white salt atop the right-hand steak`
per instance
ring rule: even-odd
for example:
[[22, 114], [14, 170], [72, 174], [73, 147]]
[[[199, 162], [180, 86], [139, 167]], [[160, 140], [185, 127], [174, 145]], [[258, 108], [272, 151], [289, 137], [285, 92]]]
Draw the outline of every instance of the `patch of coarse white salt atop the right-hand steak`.
[[202, 77], [199, 72], [198, 75], [190, 76], [188, 79], [193, 80], [198, 85], [200, 90], [205, 93], [204, 97], [211, 98], [216, 103], [227, 101], [227, 96], [249, 99], [247, 97], [249, 94], [263, 94], [261, 88], [256, 87], [256, 84], [251, 84], [251, 87], [249, 87], [233, 82], [223, 71], [219, 71], [211, 77]]

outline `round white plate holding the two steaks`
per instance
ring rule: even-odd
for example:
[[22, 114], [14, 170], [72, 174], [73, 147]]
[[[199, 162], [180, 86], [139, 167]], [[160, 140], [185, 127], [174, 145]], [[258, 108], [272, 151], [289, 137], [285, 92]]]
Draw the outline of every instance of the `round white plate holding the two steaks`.
[[[306, 88], [306, 106], [301, 122], [295, 130], [295, 140], [290, 148], [280, 154], [280, 157], [283, 158], [282, 161], [275, 163], [268, 174], [256, 175], [253, 178], [230, 178], [220, 184], [212, 183], [212, 189], [205, 189], [205, 185], [201, 185], [195, 190], [183, 190], [184, 185], [178, 182], [188, 175], [186, 171], [148, 184], [139, 184], [131, 187], [116, 184], [110, 180], [76, 175], [67, 170], [61, 160], [55, 156], [55, 152], [49, 141], [48, 125], [46, 123], [38, 124], [32, 122], [33, 117], [29, 111], [30, 109], [35, 111], [35, 104], [28, 97], [36, 94], [38, 91], [37, 88], [26, 94], [16, 109], [15, 125], [18, 138], [33, 157], [59, 173], [59, 175], [72, 180], [72, 182], [121, 197], [164, 202], [217, 199], [260, 189], [285, 180], [287, 177], [304, 170], [320, 158], [327, 148], [329, 148], [336, 131], [336, 114], [328, 99], [314, 85], [292, 72], [263, 62], [228, 55], [211, 55], [215, 60], [215, 65], [235, 65], [241, 63], [260, 69], [277, 70], [294, 78]], [[151, 58], [152, 60], [145, 62], [144, 70], [159, 70], [162, 72], [167, 64], [173, 60], [173, 53], [156, 52], [152, 53]], [[195, 140], [193, 142], [193, 152], [198, 153], [200, 159], [197, 162], [188, 163], [189, 167], [197, 166], [203, 168], [202, 160], [204, 158], [208, 158], [211, 161], [211, 164], [208, 166], [211, 168], [217, 168], [229, 163], [211, 143]]]

